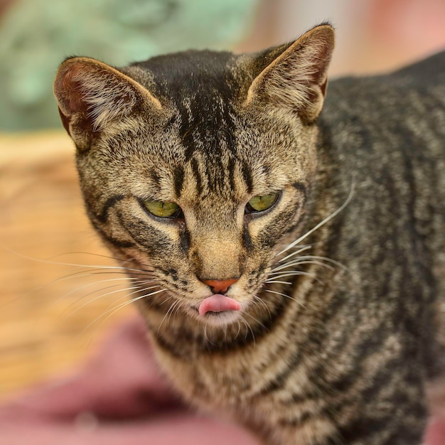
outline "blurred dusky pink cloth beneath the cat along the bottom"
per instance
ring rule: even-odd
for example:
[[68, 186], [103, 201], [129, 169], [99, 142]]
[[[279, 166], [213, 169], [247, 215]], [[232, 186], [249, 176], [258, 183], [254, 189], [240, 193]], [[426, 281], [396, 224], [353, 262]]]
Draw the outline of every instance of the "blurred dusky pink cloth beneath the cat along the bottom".
[[[445, 421], [427, 445], [445, 444]], [[187, 409], [151, 357], [143, 323], [132, 320], [74, 377], [0, 407], [0, 444], [259, 445], [230, 422]]]

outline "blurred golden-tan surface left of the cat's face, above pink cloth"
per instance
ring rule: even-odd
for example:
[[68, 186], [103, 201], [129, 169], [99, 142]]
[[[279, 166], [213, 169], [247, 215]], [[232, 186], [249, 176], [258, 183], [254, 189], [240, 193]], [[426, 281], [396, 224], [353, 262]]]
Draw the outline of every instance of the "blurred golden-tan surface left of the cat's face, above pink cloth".
[[92, 270], [116, 263], [85, 215], [74, 154], [62, 132], [0, 135], [0, 399], [68, 372], [133, 311], [110, 310], [127, 301], [124, 275]]

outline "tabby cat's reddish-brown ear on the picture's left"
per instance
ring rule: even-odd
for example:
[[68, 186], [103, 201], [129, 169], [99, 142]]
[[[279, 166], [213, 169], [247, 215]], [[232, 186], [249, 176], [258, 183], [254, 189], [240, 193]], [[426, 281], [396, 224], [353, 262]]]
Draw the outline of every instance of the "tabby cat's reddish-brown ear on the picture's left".
[[65, 60], [53, 90], [63, 127], [79, 149], [138, 108], [161, 109], [159, 100], [131, 77], [92, 58]]

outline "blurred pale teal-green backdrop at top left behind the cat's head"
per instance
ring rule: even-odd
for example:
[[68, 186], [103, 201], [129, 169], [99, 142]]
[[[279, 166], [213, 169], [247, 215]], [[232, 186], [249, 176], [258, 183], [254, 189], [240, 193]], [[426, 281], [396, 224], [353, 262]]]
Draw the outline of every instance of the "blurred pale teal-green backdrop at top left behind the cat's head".
[[257, 0], [16, 0], [0, 20], [0, 130], [60, 127], [52, 82], [69, 55], [125, 65], [188, 48], [230, 48]]

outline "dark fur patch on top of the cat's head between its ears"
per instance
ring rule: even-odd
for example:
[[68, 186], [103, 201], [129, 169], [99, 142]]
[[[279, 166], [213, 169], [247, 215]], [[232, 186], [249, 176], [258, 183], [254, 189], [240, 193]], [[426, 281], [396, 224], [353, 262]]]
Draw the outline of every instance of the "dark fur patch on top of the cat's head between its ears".
[[196, 150], [235, 150], [233, 101], [240, 85], [230, 71], [231, 53], [186, 51], [136, 63], [154, 76], [154, 94], [178, 109], [186, 161]]

